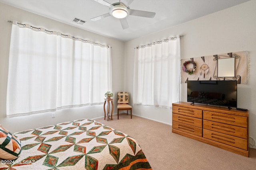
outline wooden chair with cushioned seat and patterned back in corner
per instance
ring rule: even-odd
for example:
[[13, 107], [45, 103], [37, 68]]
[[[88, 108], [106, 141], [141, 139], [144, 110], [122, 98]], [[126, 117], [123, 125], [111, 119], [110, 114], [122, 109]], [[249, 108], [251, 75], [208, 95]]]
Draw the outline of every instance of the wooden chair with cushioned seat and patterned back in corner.
[[128, 92], [118, 92], [117, 93], [117, 119], [119, 119], [119, 111], [120, 110], [130, 110], [131, 119], [132, 119], [132, 106], [129, 104], [129, 94]]

